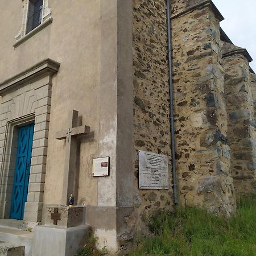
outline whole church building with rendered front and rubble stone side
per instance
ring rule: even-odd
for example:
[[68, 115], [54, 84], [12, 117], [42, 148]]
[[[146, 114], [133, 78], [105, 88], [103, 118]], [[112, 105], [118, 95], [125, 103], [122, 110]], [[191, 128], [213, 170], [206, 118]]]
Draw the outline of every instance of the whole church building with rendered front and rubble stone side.
[[[256, 193], [256, 75], [211, 0], [0, 1], [0, 255], [125, 255], [176, 205]], [[11, 254], [13, 253], [13, 254]]]

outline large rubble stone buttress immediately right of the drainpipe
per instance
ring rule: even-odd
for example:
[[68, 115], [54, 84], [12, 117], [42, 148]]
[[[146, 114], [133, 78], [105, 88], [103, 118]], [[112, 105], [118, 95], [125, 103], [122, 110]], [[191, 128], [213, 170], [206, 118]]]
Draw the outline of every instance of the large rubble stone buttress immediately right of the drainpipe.
[[180, 203], [236, 210], [221, 67], [221, 14], [211, 1], [171, 1]]

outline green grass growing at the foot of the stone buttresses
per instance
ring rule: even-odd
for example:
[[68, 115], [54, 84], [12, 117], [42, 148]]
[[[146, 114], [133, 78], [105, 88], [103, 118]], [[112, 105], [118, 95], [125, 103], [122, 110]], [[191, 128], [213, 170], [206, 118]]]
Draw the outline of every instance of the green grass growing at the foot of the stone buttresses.
[[129, 256], [256, 256], [256, 196], [241, 199], [229, 220], [180, 208], [153, 218], [150, 229], [155, 236], [139, 240]]

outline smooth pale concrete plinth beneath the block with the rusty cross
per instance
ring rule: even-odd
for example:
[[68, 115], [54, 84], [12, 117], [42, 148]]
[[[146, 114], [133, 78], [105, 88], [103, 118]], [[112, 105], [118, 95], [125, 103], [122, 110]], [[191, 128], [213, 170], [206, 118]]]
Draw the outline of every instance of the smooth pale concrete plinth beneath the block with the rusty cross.
[[83, 247], [88, 240], [89, 226], [74, 228], [53, 228], [37, 226], [32, 243], [33, 256], [71, 256]]

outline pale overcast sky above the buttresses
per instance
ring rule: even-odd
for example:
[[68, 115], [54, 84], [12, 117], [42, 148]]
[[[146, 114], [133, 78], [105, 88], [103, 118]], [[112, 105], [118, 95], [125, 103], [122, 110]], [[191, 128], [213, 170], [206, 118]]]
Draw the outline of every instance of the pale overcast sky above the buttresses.
[[213, 0], [225, 20], [221, 27], [236, 46], [246, 48], [256, 73], [256, 0]]

